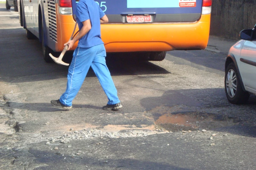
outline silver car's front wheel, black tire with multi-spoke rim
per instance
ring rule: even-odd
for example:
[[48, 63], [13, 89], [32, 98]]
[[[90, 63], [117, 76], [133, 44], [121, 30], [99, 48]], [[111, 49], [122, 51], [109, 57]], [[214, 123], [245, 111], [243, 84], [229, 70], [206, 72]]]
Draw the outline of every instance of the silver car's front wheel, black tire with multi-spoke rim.
[[235, 64], [230, 63], [225, 71], [225, 92], [230, 103], [246, 103], [250, 97], [248, 92], [243, 91]]

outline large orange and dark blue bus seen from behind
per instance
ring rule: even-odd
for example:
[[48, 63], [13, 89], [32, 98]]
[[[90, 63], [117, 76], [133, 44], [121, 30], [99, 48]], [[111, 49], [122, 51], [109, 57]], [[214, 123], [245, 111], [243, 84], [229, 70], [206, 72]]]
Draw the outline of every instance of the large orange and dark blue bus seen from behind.
[[[28, 39], [42, 43], [43, 58], [60, 52], [74, 29], [78, 0], [18, 0]], [[101, 25], [107, 52], [139, 52], [162, 61], [166, 51], [207, 47], [212, 0], [95, 0], [109, 23]], [[78, 27], [77, 27], [78, 30]], [[75, 50], [77, 43], [71, 50]], [[140, 55], [138, 55], [140, 56]]]

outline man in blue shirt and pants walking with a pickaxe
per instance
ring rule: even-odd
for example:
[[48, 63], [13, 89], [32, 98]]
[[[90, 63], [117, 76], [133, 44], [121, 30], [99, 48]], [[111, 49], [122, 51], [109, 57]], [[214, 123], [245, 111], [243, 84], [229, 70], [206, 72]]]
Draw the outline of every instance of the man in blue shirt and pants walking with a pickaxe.
[[106, 65], [106, 50], [100, 34], [100, 24], [107, 23], [108, 18], [94, 0], [80, 0], [77, 3], [76, 20], [79, 33], [64, 44], [68, 45], [69, 50], [79, 40], [69, 66], [67, 88], [60, 99], [52, 100], [51, 104], [57, 108], [71, 109], [72, 101], [91, 66], [109, 100], [103, 110], [118, 110], [123, 106]]

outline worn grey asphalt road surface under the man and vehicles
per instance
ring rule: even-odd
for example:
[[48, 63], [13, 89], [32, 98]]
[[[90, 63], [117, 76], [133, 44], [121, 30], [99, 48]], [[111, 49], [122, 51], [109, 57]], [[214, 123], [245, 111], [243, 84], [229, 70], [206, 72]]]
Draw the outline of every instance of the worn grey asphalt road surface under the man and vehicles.
[[45, 63], [39, 40], [0, 4], [0, 169], [255, 169], [256, 97], [232, 105], [224, 91], [233, 43], [211, 37], [207, 50], [162, 62], [108, 54], [124, 107], [101, 109], [107, 97], [89, 70], [64, 111], [50, 100], [64, 92], [68, 67]]

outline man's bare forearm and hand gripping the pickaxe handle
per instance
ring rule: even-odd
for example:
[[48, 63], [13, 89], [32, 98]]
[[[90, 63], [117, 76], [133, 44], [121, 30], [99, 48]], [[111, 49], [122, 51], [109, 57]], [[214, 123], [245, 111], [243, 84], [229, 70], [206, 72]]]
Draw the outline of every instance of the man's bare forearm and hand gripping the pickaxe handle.
[[90, 20], [83, 21], [82, 23], [83, 23], [83, 27], [81, 28], [81, 30], [79, 31], [77, 36], [73, 40], [70, 40], [70, 41], [68, 41], [67, 43], [64, 44], [64, 46], [68, 45], [68, 50], [71, 49], [73, 47], [73, 45], [80, 38], [82, 38], [84, 35], [86, 35], [92, 29], [92, 25], [91, 25]]

